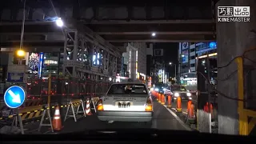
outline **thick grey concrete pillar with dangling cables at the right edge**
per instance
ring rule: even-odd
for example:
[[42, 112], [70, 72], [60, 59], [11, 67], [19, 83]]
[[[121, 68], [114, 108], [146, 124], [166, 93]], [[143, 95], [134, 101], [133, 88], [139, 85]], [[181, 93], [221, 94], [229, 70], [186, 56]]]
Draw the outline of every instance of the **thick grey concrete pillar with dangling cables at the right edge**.
[[[245, 50], [253, 46], [255, 48], [256, 2], [255, 0], [220, 0], [217, 6], [250, 6], [250, 22], [217, 22], [218, 67], [220, 67], [226, 66], [233, 58], [242, 55]], [[255, 55], [256, 51], [250, 51], [246, 57], [255, 61]], [[253, 65], [247, 60], [245, 64]], [[230, 66], [218, 69], [218, 79], [227, 78], [235, 70], [237, 70], [237, 64], [234, 61]], [[251, 79], [255, 80], [255, 75], [254, 72]], [[251, 87], [256, 88], [255, 81]], [[230, 98], [238, 98], [237, 74], [224, 82], [218, 82], [218, 90]], [[256, 90], [251, 92], [254, 93], [252, 95], [256, 95]], [[238, 132], [238, 101], [218, 94], [218, 133], [239, 134]]]

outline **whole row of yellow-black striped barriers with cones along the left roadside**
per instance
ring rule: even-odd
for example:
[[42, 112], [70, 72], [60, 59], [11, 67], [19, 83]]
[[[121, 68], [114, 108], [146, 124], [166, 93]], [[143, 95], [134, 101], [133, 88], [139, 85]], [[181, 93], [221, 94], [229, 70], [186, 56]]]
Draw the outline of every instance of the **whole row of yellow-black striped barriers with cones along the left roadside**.
[[[10, 130], [15, 127], [16, 129], [18, 128], [19, 133], [26, 134], [30, 131], [26, 129], [26, 124], [33, 122], [38, 127], [36, 129], [39, 132], [38, 134], [40, 134], [43, 127], [46, 127], [46, 129], [52, 132], [54, 130], [61, 130], [63, 127], [62, 119], [64, 119], [64, 122], [67, 118], [77, 122], [79, 118], [90, 116], [93, 113], [95, 114], [98, 99], [98, 97], [86, 98], [85, 100], [71, 99], [66, 105], [38, 105], [11, 109], [11, 114], [0, 117], [0, 129], [4, 126], [10, 126]], [[63, 111], [63, 113], [60, 113], [60, 111]], [[58, 122], [56, 122], [57, 118], [59, 118], [57, 120]], [[5, 134], [11, 134], [11, 132], [5, 130]]]

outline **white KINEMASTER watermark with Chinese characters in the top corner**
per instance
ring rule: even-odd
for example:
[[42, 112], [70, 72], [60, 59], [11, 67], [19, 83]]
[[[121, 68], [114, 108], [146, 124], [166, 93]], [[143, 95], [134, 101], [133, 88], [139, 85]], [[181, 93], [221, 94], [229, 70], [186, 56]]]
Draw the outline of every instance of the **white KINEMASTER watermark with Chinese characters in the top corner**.
[[250, 22], [250, 6], [218, 6], [218, 22]]

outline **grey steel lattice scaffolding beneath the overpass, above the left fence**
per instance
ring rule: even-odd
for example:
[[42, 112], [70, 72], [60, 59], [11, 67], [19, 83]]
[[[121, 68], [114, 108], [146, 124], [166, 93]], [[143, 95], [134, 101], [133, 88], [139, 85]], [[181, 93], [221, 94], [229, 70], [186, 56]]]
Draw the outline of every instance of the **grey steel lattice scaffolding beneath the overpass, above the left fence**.
[[64, 30], [64, 34], [63, 76], [94, 80], [116, 76], [121, 53], [114, 54], [78, 30]]

